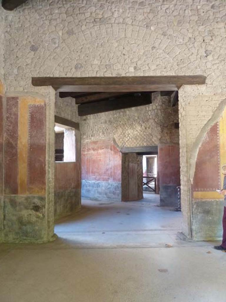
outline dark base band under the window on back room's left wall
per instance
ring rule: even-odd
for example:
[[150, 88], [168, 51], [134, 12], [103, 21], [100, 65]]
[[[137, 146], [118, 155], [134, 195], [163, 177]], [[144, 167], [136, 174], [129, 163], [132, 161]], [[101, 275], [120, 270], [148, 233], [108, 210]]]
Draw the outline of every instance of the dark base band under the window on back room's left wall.
[[81, 207], [80, 189], [54, 193], [55, 220], [73, 213]]

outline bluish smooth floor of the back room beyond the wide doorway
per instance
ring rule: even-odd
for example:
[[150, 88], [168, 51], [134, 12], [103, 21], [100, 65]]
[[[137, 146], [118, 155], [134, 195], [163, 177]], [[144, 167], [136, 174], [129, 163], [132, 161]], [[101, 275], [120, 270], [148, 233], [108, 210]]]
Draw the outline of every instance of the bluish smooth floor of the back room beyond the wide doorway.
[[55, 233], [77, 246], [151, 247], [177, 244], [182, 214], [159, 207], [159, 195], [145, 193], [140, 201], [82, 199], [82, 209], [58, 221]]

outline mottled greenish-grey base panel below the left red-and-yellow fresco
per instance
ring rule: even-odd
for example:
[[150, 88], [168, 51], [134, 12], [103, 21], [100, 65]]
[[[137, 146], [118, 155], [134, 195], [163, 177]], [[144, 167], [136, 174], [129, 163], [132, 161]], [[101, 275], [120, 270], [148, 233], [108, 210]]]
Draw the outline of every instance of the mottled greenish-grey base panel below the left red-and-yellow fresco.
[[45, 206], [45, 196], [5, 195], [4, 240], [42, 242], [46, 230]]

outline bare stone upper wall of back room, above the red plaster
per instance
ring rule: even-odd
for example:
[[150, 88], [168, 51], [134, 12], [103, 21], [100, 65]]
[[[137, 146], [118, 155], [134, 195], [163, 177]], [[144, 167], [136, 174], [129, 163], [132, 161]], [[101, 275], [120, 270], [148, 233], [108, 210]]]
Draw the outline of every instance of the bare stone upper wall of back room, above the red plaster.
[[113, 138], [119, 148], [179, 143], [178, 108], [156, 92], [152, 104], [81, 118], [83, 141]]

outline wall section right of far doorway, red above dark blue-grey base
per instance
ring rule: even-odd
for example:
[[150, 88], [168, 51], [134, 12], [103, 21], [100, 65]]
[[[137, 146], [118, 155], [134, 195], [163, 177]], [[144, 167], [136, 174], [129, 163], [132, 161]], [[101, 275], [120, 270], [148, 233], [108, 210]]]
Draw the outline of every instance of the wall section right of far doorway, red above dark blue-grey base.
[[177, 207], [180, 185], [180, 146], [161, 145], [158, 151], [160, 206]]

